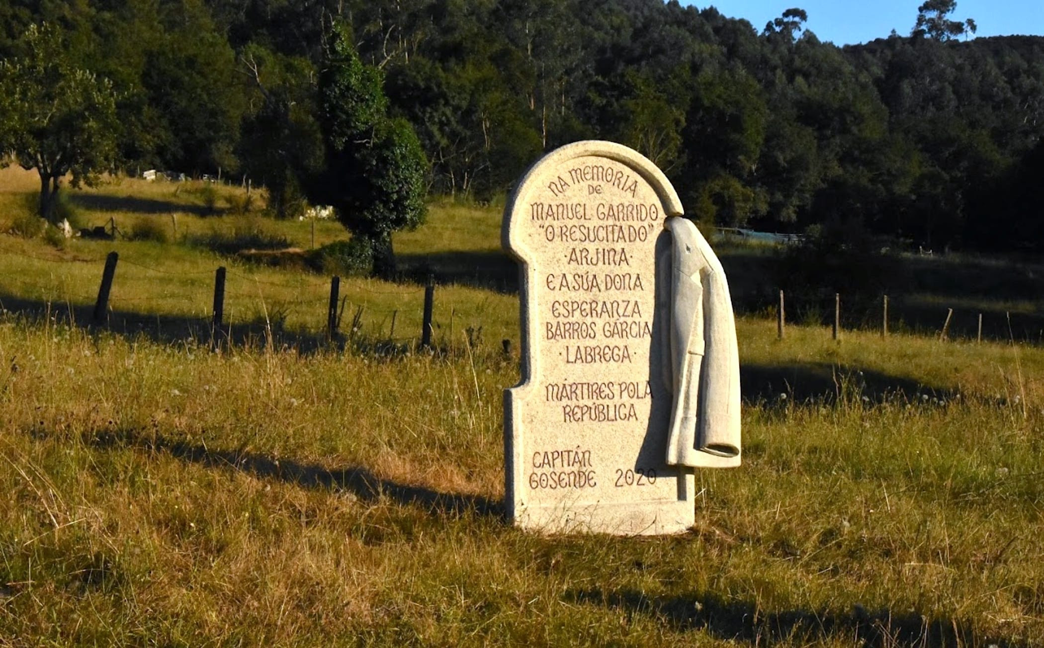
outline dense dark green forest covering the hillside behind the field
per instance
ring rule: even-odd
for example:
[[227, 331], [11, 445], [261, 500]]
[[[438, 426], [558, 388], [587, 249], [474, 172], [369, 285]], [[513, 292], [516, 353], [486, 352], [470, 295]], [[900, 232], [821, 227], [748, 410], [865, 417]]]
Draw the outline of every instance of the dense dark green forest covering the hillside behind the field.
[[911, 1], [909, 35], [837, 47], [798, 8], [762, 28], [674, 0], [8, 0], [0, 57], [54, 26], [55, 55], [112, 83], [124, 169], [246, 175], [284, 214], [324, 164], [339, 23], [431, 193], [488, 200], [599, 138], [657, 163], [704, 223], [1040, 251], [1044, 38], [968, 40], [954, 5]]

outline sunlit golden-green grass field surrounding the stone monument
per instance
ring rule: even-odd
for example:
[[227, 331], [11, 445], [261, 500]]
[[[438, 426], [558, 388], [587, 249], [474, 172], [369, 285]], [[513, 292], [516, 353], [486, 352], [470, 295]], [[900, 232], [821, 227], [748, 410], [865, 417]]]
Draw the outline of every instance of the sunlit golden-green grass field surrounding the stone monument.
[[[31, 190], [5, 178], [0, 220]], [[85, 195], [176, 202], [189, 233], [238, 218], [132, 183]], [[1040, 346], [817, 325], [777, 340], [752, 309], [744, 465], [697, 476], [696, 527], [539, 537], [501, 513], [518, 304], [495, 275], [499, 216], [431, 216], [397, 249], [456, 280], [436, 291], [436, 353], [410, 344], [417, 283], [346, 280], [360, 343], [305, 344], [321, 274], [0, 236], [0, 645], [1044, 644]], [[310, 243], [308, 223], [265, 226]], [[114, 248], [113, 331], [70, 322]], [[218, 265], [233, 332], [260, 328], [211, 353]], [[375, 343], [397, 309], [403, 339]]]

